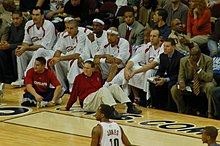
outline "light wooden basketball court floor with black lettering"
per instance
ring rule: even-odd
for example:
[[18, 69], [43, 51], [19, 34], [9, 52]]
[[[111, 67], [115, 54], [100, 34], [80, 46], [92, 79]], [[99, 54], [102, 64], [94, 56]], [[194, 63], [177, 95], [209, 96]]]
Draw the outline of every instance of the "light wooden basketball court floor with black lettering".
[[[76, 104], [71, 111], [59, 111], [69, 98], [52, 108], [21, 107], [24, 88], [6, 85], [0, 99], [0, 146], [88, 146], [91, 130], [97, 125], [94, 114], [83, 112]], [[118, 105], [120, 112], [126, 106]], [[220, 121], [141, 108], [140, 116], [124, 114], [117, 120], [134, 145], [140, 146], [202, 146], [201, 132], [206, 125], [220, 128]], [[19, 112], [23, 112], [20, 114]], [[220, 142], [220, 134], [217, 138]]]

